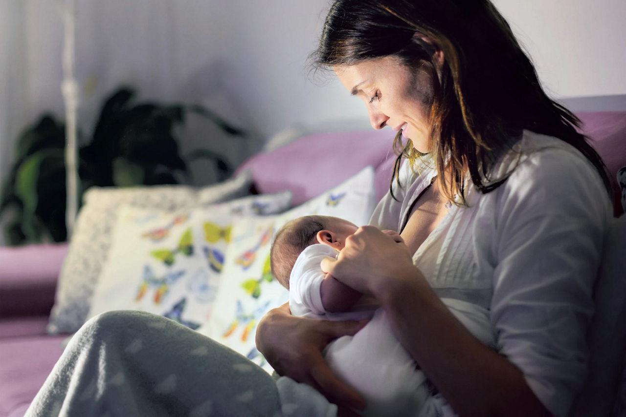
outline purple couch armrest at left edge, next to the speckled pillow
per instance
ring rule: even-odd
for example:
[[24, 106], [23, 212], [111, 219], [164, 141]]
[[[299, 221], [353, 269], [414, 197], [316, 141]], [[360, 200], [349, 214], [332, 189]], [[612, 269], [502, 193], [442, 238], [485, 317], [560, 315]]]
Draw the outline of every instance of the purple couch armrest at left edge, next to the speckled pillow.
[[0, 248], [0, 318], [49, 314], [67, 244]]

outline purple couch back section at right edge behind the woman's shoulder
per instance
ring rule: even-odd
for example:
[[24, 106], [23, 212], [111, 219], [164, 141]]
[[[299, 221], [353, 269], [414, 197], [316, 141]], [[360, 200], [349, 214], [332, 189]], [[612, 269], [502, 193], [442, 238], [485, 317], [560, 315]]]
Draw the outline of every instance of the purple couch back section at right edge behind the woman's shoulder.
[[576, 114], [583, 122], [583, 132], [607, 165], [615, 201], [615, 214], [623, 212], [617, 184], [617, 171], [626, 166], [626, 112], [597, 111]]

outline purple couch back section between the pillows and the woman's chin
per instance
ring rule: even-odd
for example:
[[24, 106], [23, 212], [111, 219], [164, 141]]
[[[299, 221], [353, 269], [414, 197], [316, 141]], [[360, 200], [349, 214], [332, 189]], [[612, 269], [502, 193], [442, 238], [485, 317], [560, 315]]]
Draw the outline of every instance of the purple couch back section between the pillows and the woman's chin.
[[[376, 192], [382, 198], [391, 172], [384, 184], [386, 172], [381, 169], [379, 173], [377, 168], [387, 159], [394, 159], [393, 138], [391, 129], [310, 134], [274, 151], [252, 156], [237, 172], [252, 169], [259, 193], [291, 190], [292, 206], [297, 206], [372, 165], [377, 172]], [[393, 161], [390, 166], [393, 167]]]

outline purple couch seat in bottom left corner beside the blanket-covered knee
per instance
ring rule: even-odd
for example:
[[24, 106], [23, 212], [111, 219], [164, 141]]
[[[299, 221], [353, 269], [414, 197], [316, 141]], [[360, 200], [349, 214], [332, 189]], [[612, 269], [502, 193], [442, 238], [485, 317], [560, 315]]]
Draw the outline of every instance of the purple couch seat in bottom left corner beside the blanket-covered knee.
[[63, 353], [66, 336], [0, 340], [0, 416], [23, 416]]

